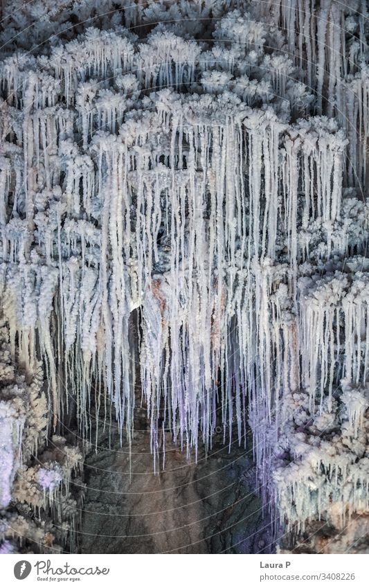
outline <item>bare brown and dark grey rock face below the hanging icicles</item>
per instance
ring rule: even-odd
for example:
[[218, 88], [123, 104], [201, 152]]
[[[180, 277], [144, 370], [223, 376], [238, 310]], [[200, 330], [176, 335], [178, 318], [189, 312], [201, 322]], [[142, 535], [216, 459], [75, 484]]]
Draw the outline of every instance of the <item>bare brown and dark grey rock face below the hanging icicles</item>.
[[235, 443], [228, 453], [215, 438], [208, 458], [201, 450], [196, 464], [194, 452], [187, 460], [166, 434], [165, 471], [160, 463], [154, 474], [148, 435], [135, 432], [131, 464], [127, 445], [109, 447], [103, 439], [98, 454], [87, 456], [81, 553], [273, 551], [250, 447]]

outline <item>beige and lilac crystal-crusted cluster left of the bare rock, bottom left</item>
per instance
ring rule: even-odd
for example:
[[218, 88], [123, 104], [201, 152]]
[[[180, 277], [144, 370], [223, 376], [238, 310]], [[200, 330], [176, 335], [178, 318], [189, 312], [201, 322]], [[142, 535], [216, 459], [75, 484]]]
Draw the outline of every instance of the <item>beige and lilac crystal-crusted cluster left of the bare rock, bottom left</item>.
[[[48, 407], [40, 363], [33, 373], [10, 357], [8, 329], [0, 331], [0, 538], [3, 553], [73, 549], [83, 484], [75, 474], [82, 454], [62, 437], [46, 445]], [[70, 487], [72, 478], [73, 488]], [[71, 491], [73, 490], [73, 492]], [[61, 543], [61, 544], [60, 544]]]

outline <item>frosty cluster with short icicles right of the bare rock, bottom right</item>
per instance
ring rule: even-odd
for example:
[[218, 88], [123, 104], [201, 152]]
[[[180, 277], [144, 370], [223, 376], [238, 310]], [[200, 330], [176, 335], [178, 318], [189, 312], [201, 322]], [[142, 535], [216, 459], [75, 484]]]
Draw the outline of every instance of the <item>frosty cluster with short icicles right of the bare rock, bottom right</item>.
[[295, 534], [314, 520], [345, 533], [353, 513], [369, 510], [368, 386], [347, 380], [341, 386], [343, 393], [318, 414], [306, 393], [285, 400], [289, 418], [274, 450], [272, 485], [282, 522]]

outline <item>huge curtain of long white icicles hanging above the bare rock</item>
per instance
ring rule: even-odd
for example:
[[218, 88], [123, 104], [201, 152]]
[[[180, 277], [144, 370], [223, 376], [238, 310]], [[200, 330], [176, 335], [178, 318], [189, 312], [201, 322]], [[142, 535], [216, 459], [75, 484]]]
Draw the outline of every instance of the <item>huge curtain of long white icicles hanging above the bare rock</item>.
[[[130, 445], [143, 403], [156, 456], [163, 422], [187, 450], [210, 447], [219, 420], [241, 443], [247, 409], [264, 499], [290, 526], [331, 498], [341, 517], [365, 509], [366, 458], [302, 440], [289, 416], [295, 402], [314, 422], [336, 418], [344, 380], [345, 438], [365, 421], [364, 3], [146, 4], [123, 18], [161, 21], [145, 40], [116, 14], [0, 64], [12, 361], [26, 374], [44, 362], [55, 430], [75, 410], [89, 439], [108, 400]], [[183, 15], [212, 38], [191, 38]], [[37, 492], [65, 479], [33, 474]]]

